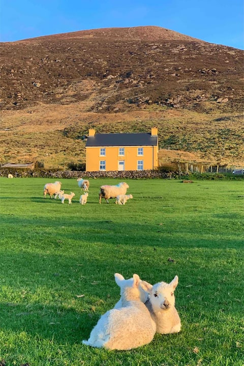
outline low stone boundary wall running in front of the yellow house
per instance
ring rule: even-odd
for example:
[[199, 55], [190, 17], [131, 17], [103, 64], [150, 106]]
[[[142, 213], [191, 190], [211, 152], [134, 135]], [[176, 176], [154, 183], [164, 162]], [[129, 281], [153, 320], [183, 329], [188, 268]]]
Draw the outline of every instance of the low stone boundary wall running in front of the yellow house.
[[121, 179], [182, 179], [186, 172], [163, 172], [162, 170], [123, 170], [123, 171], [72, 171], [72, 170], [17, 170], [0, 169], [0, 177], [12, 174], [16, 178], [121, 178]]

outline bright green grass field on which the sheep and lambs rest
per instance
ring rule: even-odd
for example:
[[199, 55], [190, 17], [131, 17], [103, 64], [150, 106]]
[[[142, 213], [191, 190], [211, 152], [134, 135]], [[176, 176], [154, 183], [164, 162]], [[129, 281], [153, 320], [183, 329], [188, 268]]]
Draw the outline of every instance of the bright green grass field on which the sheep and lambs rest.
[[[127, 180], [133, 199], [118, 206], [98, 203], [118, 180], [91, 179], [82, 206], [77, 181], [61, 180], [72, 205], [44, 200], [54, 179], [0, 178], [0, 361], [243, 366], [243, 181]], [[131, 351], [82, 345], [119, 298], [114, 272], [177, 275], [181, 332]]]

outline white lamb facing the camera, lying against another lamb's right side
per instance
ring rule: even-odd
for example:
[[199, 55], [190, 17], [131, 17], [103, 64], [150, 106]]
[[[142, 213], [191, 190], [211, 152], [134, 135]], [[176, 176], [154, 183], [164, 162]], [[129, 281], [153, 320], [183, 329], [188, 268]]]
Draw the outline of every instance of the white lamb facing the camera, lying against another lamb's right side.
[[[139, 289], [142, 293], [142, 301], [144, 291], [145, 301], [143, 302], [145, 302], [145, 306], [149, 310], [151, 318], [156, 323], [157, 333], [168, 334], [178, 333], [180, 331], [180, 318], [174, 306], [174, 290], [177, 284], [177, 276], [175, 276], [175, 278], [169, 284], [167, 284], [166, 282], [160, 282], [152, 286], [145, 281], [141, 281], [139, 284]], [[123, 306], [123, 303], [120, 299], [115, 304], [114, 308], [118, 309], [121, 306]]]

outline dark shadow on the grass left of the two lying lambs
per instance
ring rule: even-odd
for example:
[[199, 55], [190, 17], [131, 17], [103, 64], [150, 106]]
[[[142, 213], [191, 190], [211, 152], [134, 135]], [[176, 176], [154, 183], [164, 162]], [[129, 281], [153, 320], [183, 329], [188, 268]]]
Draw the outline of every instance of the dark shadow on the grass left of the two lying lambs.
[[81, 343], [88, 339], [90, 331], [100, 314], [92, 311], [78, 312], [76, 309], [47, 306], [41, 303], [0, 303], [1, 330], [9, 334], [26, 332], [33, 337], [54, 340], [58, 344]]

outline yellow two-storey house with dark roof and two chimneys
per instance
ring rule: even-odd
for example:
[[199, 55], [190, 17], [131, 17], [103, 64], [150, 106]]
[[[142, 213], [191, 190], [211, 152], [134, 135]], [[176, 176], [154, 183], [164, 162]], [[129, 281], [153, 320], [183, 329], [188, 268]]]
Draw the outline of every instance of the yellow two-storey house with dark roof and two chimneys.
[[151, 133], [96, 134], [89, 130], [86, 171], [148, 170], [159, 166], [158, 129]]

